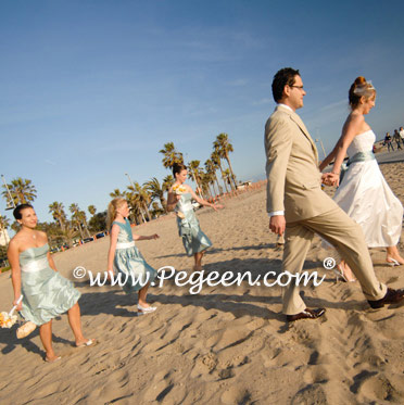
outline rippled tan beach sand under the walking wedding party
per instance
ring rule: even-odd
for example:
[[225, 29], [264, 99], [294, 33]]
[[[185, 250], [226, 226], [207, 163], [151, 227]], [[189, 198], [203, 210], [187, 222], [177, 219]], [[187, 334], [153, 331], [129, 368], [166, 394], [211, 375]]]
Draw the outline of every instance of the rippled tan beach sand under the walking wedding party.
[[[380, 166], [404, 201], [404, 163]], [[332, 192], [332, 190], [328, 190]], [[205, 273], [280, 271], [281, 250], [268, 230], [265, 187], [225, 200], [226, 208], [197, 212], [214, 246]], [[190, 271], [173, 215], [134, 228], [157, 232], [137, 242], [155, 268]], [[74, 280], [83, 266], [105, 270], [109, 238], [55, 254], [60, 271]], [[404, 246], [400, 243], [401, 252]], [[329, 252], [313, 242], [305, 269], [326, 275], [303, 289], [310, 307], [327, 308], [318, 320], [286, 322], [279, 287], [190, 286], [165, 281], [148, 301], [159, 308], [136, 317], [136, 296], [118, 287], [90, 287], [76, 280], [87, 337], [93, 347], [75, 349], [66, 315], [53, 321], [55, 352], [43, 363], [38, 330], [18, 341], [15, 327], [0, 330], [1, 404], [403, 404], [404, 307], [369, 309], [357, 283], [336, 282], [323, 267]], [[404, 287], [403, 267], [386, 265], [382, 249], [371, 250], [378, 278]], [[10, 274], [0, 276], [0, 308], [12, 302]]]

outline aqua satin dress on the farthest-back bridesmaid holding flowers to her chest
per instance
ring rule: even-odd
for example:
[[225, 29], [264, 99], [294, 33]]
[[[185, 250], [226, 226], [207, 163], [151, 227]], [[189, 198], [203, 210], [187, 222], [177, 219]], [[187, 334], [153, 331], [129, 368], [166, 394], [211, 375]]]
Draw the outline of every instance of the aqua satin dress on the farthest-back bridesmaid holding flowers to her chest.
[[191, 193], [185, 192], [177, 203], [177, 211], [184, 218], [177, 216], [179, 236], [182, 238], [184, 248], [188, 256], [202, 252], [212, 246], [211, 240], [202, 232], [197, 215], [191, 204]]

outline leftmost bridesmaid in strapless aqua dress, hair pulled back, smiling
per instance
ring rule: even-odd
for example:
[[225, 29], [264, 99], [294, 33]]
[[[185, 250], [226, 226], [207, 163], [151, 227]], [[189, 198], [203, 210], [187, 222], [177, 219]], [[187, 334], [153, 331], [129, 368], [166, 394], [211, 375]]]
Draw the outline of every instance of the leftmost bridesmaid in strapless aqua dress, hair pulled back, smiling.
[[[47, 235], [35, 229], [38, 218], [34, 207], [29, 204], [17, 205], [13, 215], [21, 225], [21, 230], [10, 241], [8, 250], [14, 289], [13, 305], [17, 305], [16, 309], [34, 325], [34, 329], [35, 325], [39, 326], [40, 340], [46, 351], [45, 360], [53, 363], [61, 357], [52, 347], [52, 319], [65, 312], [77, 347], [89, 346], [96, 340], [83, 336], [80, 307], [77, 303], [80, 293], [58, 273], [49, 252]], [[17, 304], [21, 294], [23, 301]]]

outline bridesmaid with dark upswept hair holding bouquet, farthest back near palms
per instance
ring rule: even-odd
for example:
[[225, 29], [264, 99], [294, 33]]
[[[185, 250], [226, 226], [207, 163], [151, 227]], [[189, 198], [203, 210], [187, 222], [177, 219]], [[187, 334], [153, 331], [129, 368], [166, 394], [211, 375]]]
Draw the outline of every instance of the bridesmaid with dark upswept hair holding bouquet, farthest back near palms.
[[212, 246], [212, 242], [199, 226], [191, 200], [193, 199], [201, 205], [210, 206], [215, 211], [223, 208], [223, 206], [220, 204], [211, 204], [200, 199], [191, 187], [185, 183], [188, 170], [184, 164], [175, 163], [173, 175], [175, 182], [168, 190], [167, 210], [176, 212], [178, 231], [182, 238], [184, 248], [188, 256], [193, 255], [193, 270], [200, 271], [202, 270], [203, 254], [207, 248]]

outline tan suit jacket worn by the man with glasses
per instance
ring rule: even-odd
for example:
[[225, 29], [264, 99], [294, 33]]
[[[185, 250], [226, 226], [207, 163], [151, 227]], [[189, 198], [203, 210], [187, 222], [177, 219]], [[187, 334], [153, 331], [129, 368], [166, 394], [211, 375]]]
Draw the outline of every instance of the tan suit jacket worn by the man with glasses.
[[317, 148], [300, 116], [278, 105], [265, 125], [267, 212], [287, 223], [312, 218], [338, 205], [321, 190]]

